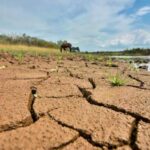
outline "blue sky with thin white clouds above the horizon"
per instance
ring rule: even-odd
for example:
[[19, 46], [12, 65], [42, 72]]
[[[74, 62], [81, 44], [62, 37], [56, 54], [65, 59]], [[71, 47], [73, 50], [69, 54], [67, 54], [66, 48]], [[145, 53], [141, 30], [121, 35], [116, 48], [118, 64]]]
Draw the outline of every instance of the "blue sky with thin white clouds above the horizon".
[[150, 0], [0, 0], [0, 34], [67, 40], [84, 51], [150, 47]]

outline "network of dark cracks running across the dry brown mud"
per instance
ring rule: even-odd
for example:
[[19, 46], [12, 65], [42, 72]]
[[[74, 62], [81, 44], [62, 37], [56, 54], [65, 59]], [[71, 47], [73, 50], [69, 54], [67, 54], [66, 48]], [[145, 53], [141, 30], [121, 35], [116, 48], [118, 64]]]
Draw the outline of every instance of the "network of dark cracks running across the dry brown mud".
[[[90, 65], [88, 65], [87, 63], [85, 63], [84, 65], [85, 65], [85, 67], [88, 67], [90, 69]], [[67, 76], [68, 76], [68, 73], [69, 73], [69, 76], [72, 77], [72, 78], [84, 79], [84, 78], [82, 78], [82, 74], [80, 76], [80, 74], [78, 75], [76, 72], [72, 73], [68, 68], [65, 68], [65, 69], [67, 70]], [[69, 95], [68, 94], [67, 96], [61, 96], [61, 95], [57, 96], [56, 95], [56, 96], [44, 96], [44, 97], [38, 97], [38, 98], [41, 98], [41, 99], [42, 98], [52, 98], [52, 99], [54, 98], [54, 99], [61, 100], [61, 98], [76, 98], [76, 97], [78, 98], [78, 97], [83, 97], [91, 105], [104, 107], [106, 109], [110, 109], [110, 110], [113, 110], [115, 112], [123, 113], [124, 115], [132, 116], [132, 117], [134, 117], [135, 120], [133, 121], [132, 128], [130, 128], [131, 129], [131, 132], [129, 134], [130, 137], [129, 137], [129, 139], [127, 141], [120, 139], [120, 141], [118, 141], [119, 144], [117, 144], [117, 145], [110, 144], [109, 142], [108, 143], [107, 142], [106, 143], [101, 143], [101, 142], [95, 141], [92, 138], [92, 133], [89, 133], [88, 131], [82, 129], [82, 127], [81, 128], [80, 127], [79, 128], [78, 127], [74, 127], [74, 125], [69, 125], [69, 124], [63, 122], [61, 119], [59, 120], [59, 119], [55, 118], [55, 115], [51, 115], [51, 111], [53, 111], [55, 109], [58, 109], [58, 107], [52, 108], [51, 110], [47, 111], [46, 113], [45, 112], [43, 112], [43, 113], [41, 112], [41, 113], [38, 114], [38, 112], [36, 112], [35, 108], [34, 108], [34, 103], [35, 103], [35, 100], [36, 100], [36, 97], [37, 97], [37, 95], [36, 95], [37, 94], [37, 87], [41, 83], [43, 83], [44, 81], [46, 81], [46, 80], [48, 80], [50, 78], [50, 72], [47, 72], [47, 71], [44, 71], [44, 72], [47, 73], [45, 77], [37, 77], [37, 78], [32, 78], [32, 77], [31, 78], [30, 77], [29, 78], [10, 78], [10, 80], [34, 80], [34, 79], [39, 79], [39, 81], [35, 82], [34, 85], [36, 85], [36, 87], [31, 87], [30, 96], [29, 96], [28, 110], [29, 110], [29, 112], [31, 114], [31, 116], [29, 116], [31, 122], [28, 121], [29, 118], [25, 118], [24, 120], [21, 120], [21, 121], [18, 121], [18, 122], [16, 121], [14, 124], [10, 123], [10, 124], [7, 124], [7, 125], [2, 125], [3, 126], [3, 130], [0, 131], [0, 133], [16, 130], [16, 129], [22, 128], [22, 127], [30, 126], [31, 124], [36, 122], [39, 118], [42, 118], [44, 116], [48, 116], [49, 117], [48, 120], [52, 120], [52, 121], [56, 122], [61, 127], [66, 127], [68, 129], [71, 129], [73, 131], [78, 132], [78, 135], [71, 137], [70, 140], [68, 139], [68, 141], [66, 141], [66, 142], [64, 142], [62, 144], [59, 143], [58, 146], [50, 148], [51, 150], [65, 148], [66, 146], [76, 142], [78, 140], [78, 138], [80, 138], [80, 137], [82, 137], [84, 140], [86, 140], [93, 147], [97, 147], [97, 148], [117, 149], [117, 148], [120, 148], [122, 146], [128, 145], [133, 150], [139, 150], [139, 147], [138, 147], [139, 145], [137, 144], [139, 122], [143, 121], [145, 123], [150, 123], [150, 119], [146, 118], [146, 117], [143, 117], [142, 115], [140, 115], [138, 113], [128, 111], [128, 110], [126, 110], [124, 108], [120, 108], [120, 107], [117, 107], [115, 105], [105, 104], [103, 102], [97, 102], [95, 99], [92, 98], [92, 93], [90, 91], [88, 91], [88, 88], [80, 87], [77, 84], [74, 84], [74, 85], [76, 85], [78, 87], [79, 91], [82, 93], [81, 96], [80, 95]], [[136, 86], [136, 85], [127, 85], [127, 86], [132, 86], [132, 87], [135, 87], [135, 88], [138, 88], [138, 89], [150, 90], [150, 89], [147, 89], [147, 88], [144, 87], [146, 82], [143, 82], [142, 80], [140, 80], [140, 79], [138, 79], [138, 78], [136, 78], [136, 77], [134, 77], [134, 76], [132, 76], [130, 74], [128, 75], [128, 77], [130, 77], [131, 79], [137, 81], [139, 83], [139, 86]], [[7, 79], [9, 79], [9, 78], [7, 78]], [[96, 82], [94, 81], [93, 78], [88, 78], [86, 80], [88, 80], [89, 83], [92, 85], [92, 88], [91, 88], [91, 86], [89, 88], [90, 90], [96, 88], [97, 85], [96, 85]], [[81, 80], [81, 82], [82, 82], [82, 80]], [[61, 85], [63, 85], [63, 83], [59, 83], [59, 82], [58, 83], [51, 83], [51, 84], [56, 84], [56, 85], [61, 84]], [[64, 83], [64, 85], [65, 85], [65, 83]], [[68, 85], [69, 85], [69, 83], [68, 83]], [[80, 92], [79, 92], [79, 94], [81, 94]], [[31, 119], [31, 117], [32, 117], [32, 119]], [[51, 124], [48, 124], [48, 126], [51, 126]], [[70, 133], [70, 131], [69, 131], [69, 133]]]

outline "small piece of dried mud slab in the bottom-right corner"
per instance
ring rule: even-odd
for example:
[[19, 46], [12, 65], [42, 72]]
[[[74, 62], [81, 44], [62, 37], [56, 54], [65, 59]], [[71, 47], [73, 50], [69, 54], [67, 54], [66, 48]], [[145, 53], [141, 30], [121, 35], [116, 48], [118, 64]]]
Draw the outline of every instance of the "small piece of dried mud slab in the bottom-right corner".
[[150, 150], [150, 124], [139, 123], [136, 144], [139, 149]]

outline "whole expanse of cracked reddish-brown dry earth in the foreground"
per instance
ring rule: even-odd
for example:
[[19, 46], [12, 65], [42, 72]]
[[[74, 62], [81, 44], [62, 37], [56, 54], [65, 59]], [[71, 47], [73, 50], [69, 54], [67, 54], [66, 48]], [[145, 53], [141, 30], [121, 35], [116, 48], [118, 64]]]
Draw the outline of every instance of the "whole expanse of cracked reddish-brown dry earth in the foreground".
[[[79, 58], [0, 65], [1, 150], [150, 150], [149, 73]], [[126, 86], [110, 86], [116, 72]]]

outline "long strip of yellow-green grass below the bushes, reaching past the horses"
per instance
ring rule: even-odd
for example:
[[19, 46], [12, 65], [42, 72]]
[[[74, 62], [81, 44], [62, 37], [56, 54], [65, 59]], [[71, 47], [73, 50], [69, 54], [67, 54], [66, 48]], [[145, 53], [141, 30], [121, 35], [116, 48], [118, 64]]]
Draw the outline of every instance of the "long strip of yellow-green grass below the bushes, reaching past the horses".
[[61, 62], [65, 58], [74, 59], [80, 57], [87, 61], [104, 61], [105, 57], [95, 54], [86, 54], [86, 53], [70, 53], [63, 52], [61, 53], [59, 49], [55, 48], [43, 48], [36, 46], [27, 46], [27, 45], [12, 45], [12, 44], [0, 44], [0, 52], [7, 52], [14, 56], [19, 62], [22, 62], [26, 55], [33, 57], [44, 57], [49, 58], [53, 57], [58, 62]]

